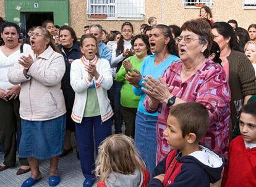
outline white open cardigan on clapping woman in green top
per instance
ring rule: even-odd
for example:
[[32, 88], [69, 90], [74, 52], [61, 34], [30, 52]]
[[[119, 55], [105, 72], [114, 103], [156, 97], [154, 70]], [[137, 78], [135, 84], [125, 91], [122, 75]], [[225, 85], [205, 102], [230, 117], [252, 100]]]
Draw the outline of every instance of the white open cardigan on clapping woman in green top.
[[[70, 84], [75, 91], [75, 101], [71, 117], [73, 121], [81, 123], [87, 101], [87, 89], [92, 86], [93, 81], [88, 81], [88, 72], [85, 71], [85, 60], [83, 58], [74, 60], [70, 70]], [[105, 122], [113, 116], [113, 110], [108, 99], [107, 90], [113, 84], [113, 78], [108, 60], [99, 58], [96, 63], [96, 70], [100, 74], [98, 80], [93, 78], [96, 83], [96, 94], [100, 106], [101, 120]]]

